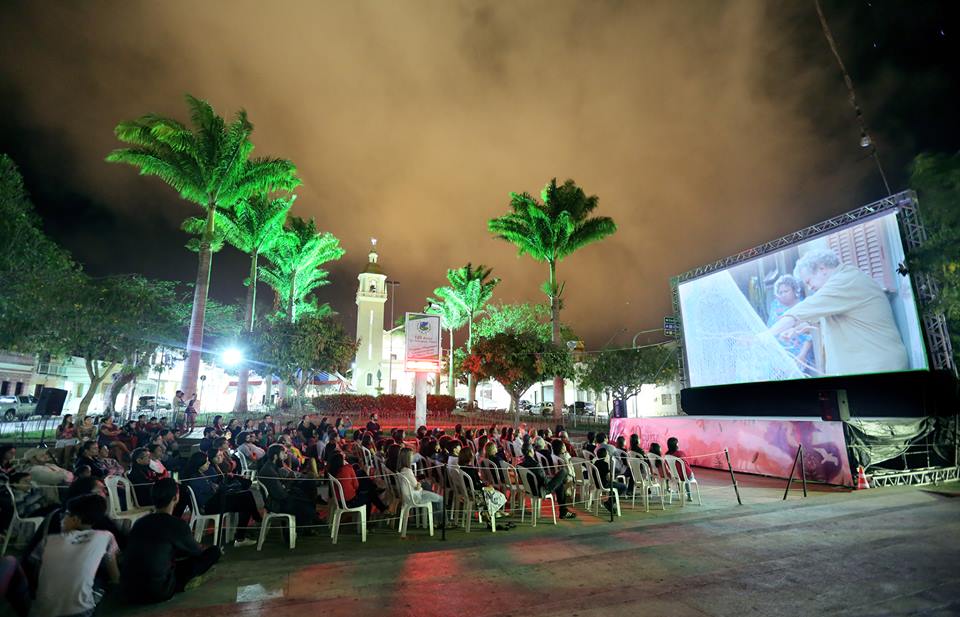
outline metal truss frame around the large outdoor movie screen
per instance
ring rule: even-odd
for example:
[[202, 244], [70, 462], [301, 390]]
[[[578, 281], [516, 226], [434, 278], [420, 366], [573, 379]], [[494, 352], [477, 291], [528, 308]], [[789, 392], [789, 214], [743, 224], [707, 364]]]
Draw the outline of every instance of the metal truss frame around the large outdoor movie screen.
[[[926, 241], [927, 232], [923, 227], [922, 221], [920, 220], [920, 212], [917, 205], [917, 194], [913, 191], [902, 191], [896, 195], [890, 195], [879, 201], [861, 206], [856, 210], [851, 210], [850, 212], [846, 212], [831, 219], [827, 219], [826, 221], [816, 223], [805, 229], [787, 234], [783, 237], [777, 238], [776, 240], [755, 246], [751, 249], [747, 249], [737, 253], [736, 255], [720, 259], [711, 264], [699, 266], [693, 270], [689, 270], [670, 279], [673, 314], [677, 319], [677, 323], [680, 324], [680, 331], [677, 335], [677, 339], [680, 343], [681, 353], [677, 355], [677, 364], [681, 388], [687, 387], [689, 384], [687, 383], [685, 366], [686, 352], [684, 350], [686, 349], [686, 346], [684, 345], [683, 340], [683, 318], [680, 314], [680, 295], [677, 291], [680, 283], [710, 274], [711, 272], [716, 272], [718, 270], [735, 266], [745, 261], [750, 261], [751, 259], [762, 257], [768, 253], [779, 251], [799, 242], [805, 242], [817, 236], [821, 236], [841, 227], [845, 227], [851, 223], [855, 223], [866, 218], [872, 218], [891, 210], [899, 211], [897, 220], [900, 223], [900, 231], [903, 235], [904, 248], [906, 249], [906, 252], [909, 253], [910, 251], [917, 249]], [[919, 308], [924, 325], [924, 335], [926, 336], [928, 351], [930, 353], [931, 368], [949, 369], [956, 373], [957, 367], [954, 366], [953, 363], [953, 349], [950, 344], [950, 335], [947, 332], [946, 319], [944, 318], [943, 313], [933, 312], [940, 293], [936, 282], [926, 274], [913, 274], [912, 277], [916, 285], [917, 297], [920, 305]]]

